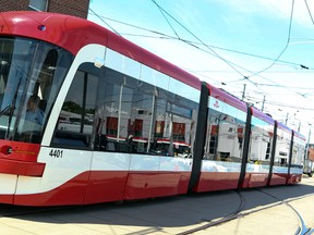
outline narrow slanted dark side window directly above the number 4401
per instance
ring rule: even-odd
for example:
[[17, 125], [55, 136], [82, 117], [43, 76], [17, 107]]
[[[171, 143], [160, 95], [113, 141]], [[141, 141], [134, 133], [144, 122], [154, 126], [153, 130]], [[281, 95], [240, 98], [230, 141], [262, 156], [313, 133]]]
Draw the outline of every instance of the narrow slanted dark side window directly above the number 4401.
[[53, 146], [89, 148], [93, 143], [98, 77], [81, 65], [63, 102], [52, 139]]

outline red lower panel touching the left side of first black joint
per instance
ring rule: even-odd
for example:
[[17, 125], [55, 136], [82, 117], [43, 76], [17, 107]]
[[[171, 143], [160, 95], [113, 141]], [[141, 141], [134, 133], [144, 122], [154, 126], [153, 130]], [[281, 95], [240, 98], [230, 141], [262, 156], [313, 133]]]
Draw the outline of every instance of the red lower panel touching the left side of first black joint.
[[181, 172], [132, 172], [128, 176], [124, 199], [140, 199], [184, 194], [189, 175]]

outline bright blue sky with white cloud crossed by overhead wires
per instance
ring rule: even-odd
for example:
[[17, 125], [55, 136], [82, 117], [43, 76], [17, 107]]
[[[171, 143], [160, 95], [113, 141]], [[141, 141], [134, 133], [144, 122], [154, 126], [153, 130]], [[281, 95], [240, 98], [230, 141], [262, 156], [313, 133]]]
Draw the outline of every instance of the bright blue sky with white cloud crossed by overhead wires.
[[314, 143], [313, 0], [90, 0], [88, 20]]

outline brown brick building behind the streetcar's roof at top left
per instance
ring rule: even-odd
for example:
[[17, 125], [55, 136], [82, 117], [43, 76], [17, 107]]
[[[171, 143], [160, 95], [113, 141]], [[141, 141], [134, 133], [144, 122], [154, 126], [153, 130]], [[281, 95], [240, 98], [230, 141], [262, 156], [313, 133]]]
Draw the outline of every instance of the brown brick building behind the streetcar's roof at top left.
[[87, 18], [89, 0], [1, 0], [0, 12], [47, 11]]

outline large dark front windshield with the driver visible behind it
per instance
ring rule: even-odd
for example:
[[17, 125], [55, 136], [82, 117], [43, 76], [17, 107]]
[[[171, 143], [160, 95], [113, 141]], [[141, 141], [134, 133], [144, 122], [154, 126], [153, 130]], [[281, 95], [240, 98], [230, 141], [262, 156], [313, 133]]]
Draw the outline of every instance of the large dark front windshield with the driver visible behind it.
[[0, 139], [40, 143], [72, 61], [57, 46], [0, 37]]

